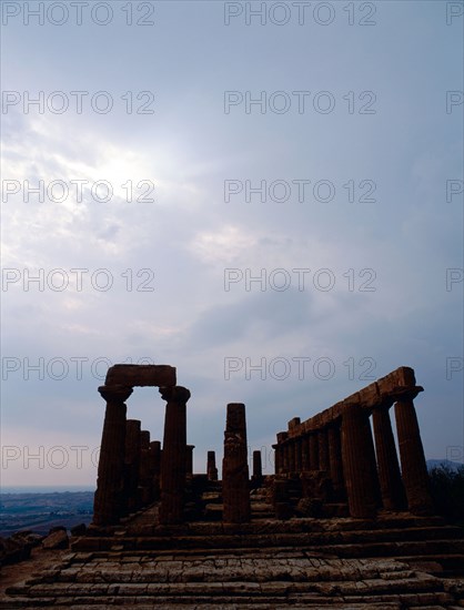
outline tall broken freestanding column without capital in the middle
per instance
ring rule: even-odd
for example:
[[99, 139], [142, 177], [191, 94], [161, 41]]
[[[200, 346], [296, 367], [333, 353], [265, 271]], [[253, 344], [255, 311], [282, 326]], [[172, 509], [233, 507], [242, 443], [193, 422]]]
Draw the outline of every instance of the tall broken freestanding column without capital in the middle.
[[250, 481], [246, 448], [245, 405], [228, 405], [222, 460], [223, 520], [226, 523], [250, 521]]

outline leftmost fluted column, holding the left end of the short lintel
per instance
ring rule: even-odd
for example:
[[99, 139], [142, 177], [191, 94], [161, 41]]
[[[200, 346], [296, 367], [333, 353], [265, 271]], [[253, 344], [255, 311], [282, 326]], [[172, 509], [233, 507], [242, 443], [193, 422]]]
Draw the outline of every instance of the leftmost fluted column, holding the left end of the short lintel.
[[93, 500], [93, 523], [117, 523], [124, 512], [124, 451], [125, 413], [124, 400], [132, 394], [131, 387], [101, 386], [101, 396], [107, 400], [97, 491]]

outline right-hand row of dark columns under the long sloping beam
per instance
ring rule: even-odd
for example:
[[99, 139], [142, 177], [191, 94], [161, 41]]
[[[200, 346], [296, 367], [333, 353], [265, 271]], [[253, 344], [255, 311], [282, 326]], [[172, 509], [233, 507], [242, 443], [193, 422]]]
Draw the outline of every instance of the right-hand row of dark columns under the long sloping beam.
[[[402, 469], [390, 420], [391, 404], [370, 409], [344, 406], [340, 417], [301, 436], [278, 434], [275, 472], [311, 470], [330, 476], [334, 497], [346, 495], [350, 515], [372, 518], [380, 506], [430, 514], [428, 475], [412, 397], [396, 401], [395, 419]], [[317, 417], [317, 416], [316, 416]], [[289, 428], [300, 424], [293, 419]]]

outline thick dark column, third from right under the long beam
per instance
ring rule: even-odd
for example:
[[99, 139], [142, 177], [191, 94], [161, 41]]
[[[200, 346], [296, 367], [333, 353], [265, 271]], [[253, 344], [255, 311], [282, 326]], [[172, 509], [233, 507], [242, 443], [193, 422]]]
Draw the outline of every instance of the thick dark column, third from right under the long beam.
[[350, 515], [357, 519], [376, 514], [369, 415], [360, 405], [346, 406], [342, 415], [342, 459]]

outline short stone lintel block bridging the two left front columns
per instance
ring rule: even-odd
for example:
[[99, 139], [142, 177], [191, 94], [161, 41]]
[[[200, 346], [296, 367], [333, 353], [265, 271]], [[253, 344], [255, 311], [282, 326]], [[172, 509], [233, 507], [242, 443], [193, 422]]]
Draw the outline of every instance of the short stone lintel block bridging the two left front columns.
[[107, 386], [175, 386], [175, 367], [155, 364], [115, 364], [108, 369]]

